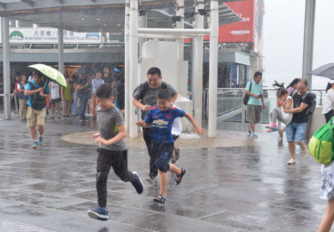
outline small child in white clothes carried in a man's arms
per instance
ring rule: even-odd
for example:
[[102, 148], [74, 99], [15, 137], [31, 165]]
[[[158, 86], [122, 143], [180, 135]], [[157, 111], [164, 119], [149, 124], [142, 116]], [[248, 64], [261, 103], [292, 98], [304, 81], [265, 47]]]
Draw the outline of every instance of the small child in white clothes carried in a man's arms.
[[270, 119], [272, 120], [272, 122], [265, 126], [266, 128], [268, 128], [268, 130], [266, 131], [268, 133], [278, 131], [278, 127], [276, 125], [277, 120], [286, 125], [289, 124], [292, 120], [293, 114], [284, 113], [280, 109], [280, 105], [282, 105], [282, 107], [286, 109], [293, 109], [292, 97], [288, 95], [288, 91], [284, 88], [283, 84], [284, 83], [279, 84], [276, 80], [275, 84], [273, 84], [273, 86], [278, 86], [279, 88], [276, 93], [276, 107], [274, 107], [274, 109], [270, 112]]

